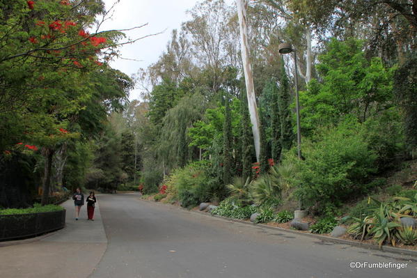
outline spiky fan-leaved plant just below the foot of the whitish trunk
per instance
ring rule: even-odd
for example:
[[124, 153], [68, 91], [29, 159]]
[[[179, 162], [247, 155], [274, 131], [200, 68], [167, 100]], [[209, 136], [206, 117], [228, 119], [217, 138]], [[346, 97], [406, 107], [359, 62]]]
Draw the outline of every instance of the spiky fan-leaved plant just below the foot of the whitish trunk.
[[259, 206], [277, 205], [281, 202], [281, 188], [268, 175], [260, 176], [251, 183], [251, 196]]

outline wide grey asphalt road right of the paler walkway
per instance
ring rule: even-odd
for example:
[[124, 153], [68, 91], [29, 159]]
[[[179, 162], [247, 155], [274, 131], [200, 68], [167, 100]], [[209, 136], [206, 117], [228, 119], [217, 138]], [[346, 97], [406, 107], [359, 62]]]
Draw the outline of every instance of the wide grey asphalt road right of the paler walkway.
[[[100, 196], [100, 210], [108, 246], [93, 278], [417, 277], [417, 258], [229, 222], [136, 194]], [[350, 268], [352, 261], [408, 265]]]

